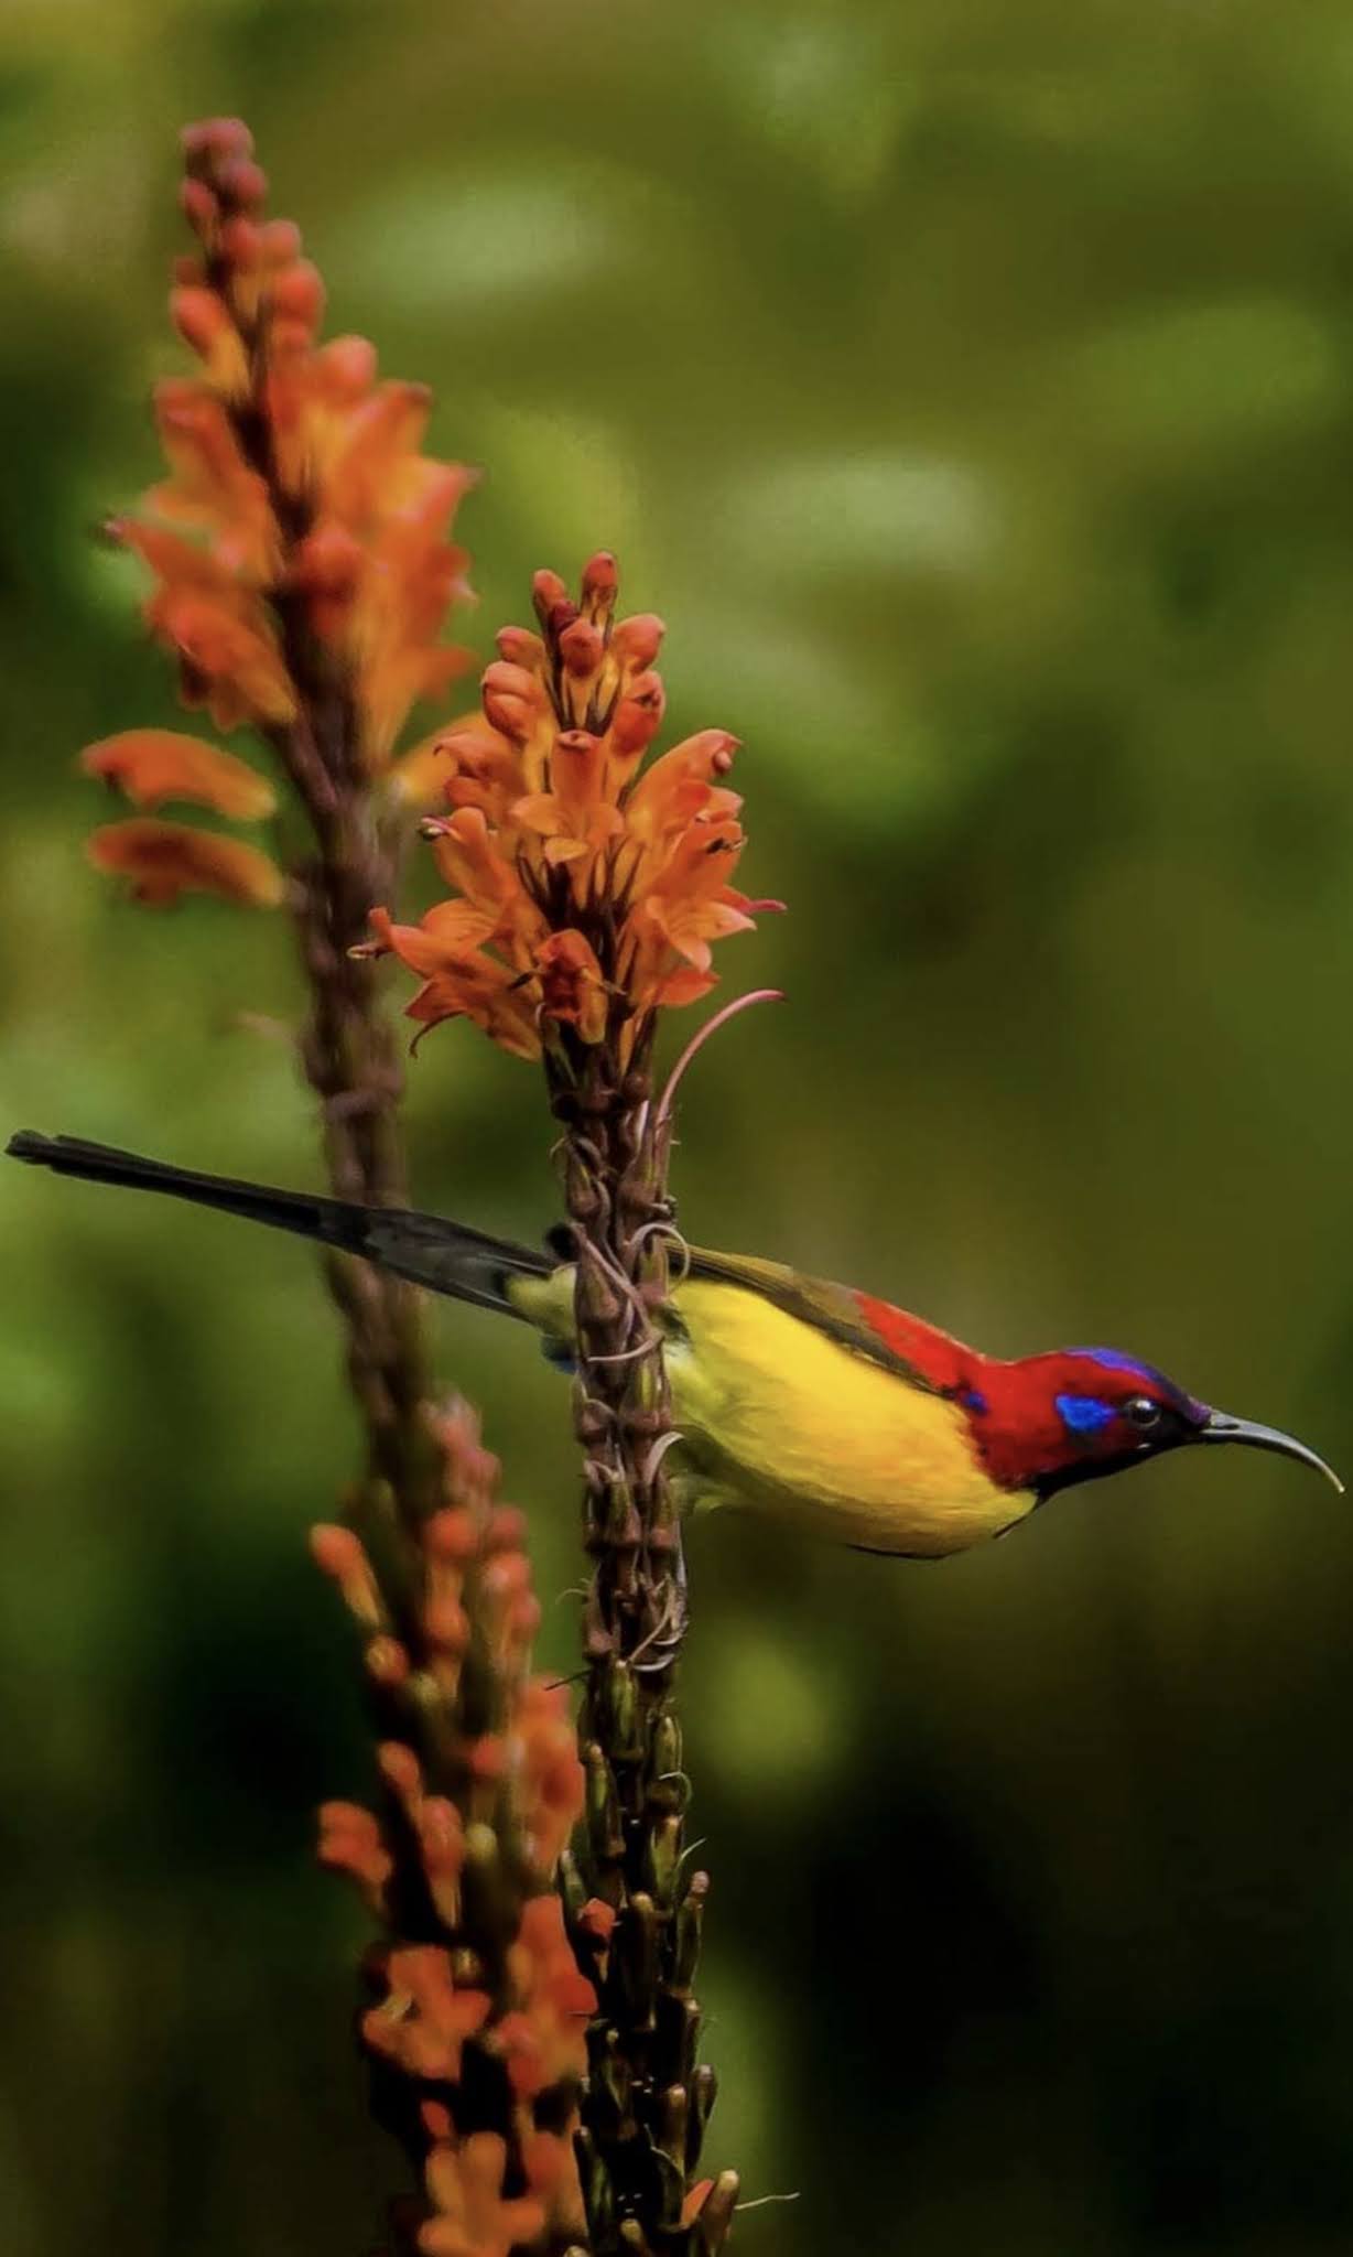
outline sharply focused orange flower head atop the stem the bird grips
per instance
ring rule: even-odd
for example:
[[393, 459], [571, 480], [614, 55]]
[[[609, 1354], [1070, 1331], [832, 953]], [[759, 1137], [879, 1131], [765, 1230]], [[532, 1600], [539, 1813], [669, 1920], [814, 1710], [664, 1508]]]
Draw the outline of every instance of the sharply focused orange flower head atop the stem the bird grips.
[[[616, 1036], [625, 1061], [661, 1004], [710, 991], [713, 943], [753, 925], [755, 905], [728, 882], [744, 844], [724, 781], [737, 738], [704, 729], [643, 770], [663, 720], [663, 623], [613, 618], [613, 557], [586, 564], [580, 603], [557, 573], [537, 573], [534, 605], [541, 634], [498, 636], [487, 727], [442, 740], [456, 813], [424, 824], [460, 903], [492, 919], [474, 982], [465, 966], [428, 971], [440, 910], [422, 928], [379, 919], [379, 946], [424, 977], [408, 1007], [424, 1025], [467, 1016], [521, 1056], [555, 1047], [561, 1029], [584, 1045]], [[483, 1002], [494, 964], [514, 975], [498, 993], [519, 1004], [501, 1027]]]

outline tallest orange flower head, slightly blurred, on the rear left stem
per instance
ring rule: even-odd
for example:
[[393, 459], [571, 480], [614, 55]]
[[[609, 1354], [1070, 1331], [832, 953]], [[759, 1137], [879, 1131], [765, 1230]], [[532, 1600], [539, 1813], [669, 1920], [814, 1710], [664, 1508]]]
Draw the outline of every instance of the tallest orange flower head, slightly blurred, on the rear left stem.
[[[322, 813], [334, 790], [386, 776], [410, 709], [471, 664], [440, 639], [449, 605], [469, 596], [449, 528], [471, 472], [422, 454], [424, 386], [381, 381], [361, 336], [318, 343], [325, 287], [298, 228], [264, 217], [248, 129], [189, 126], [183, 158], [198, 255], [176, 262], [169, 314], [201, 372], [156, 386], [169, 474], [108, 535], [153, 576], [144, 618], [178, 659], [183, 702], [219, 729], [255, 727]], [[316, 711], [338, 747], [313, 745]], [[106, 745], [86, 756], [138, 803], [271, 813], [271, 785], [250, 790], [241, 763], [230, 788], [201, 756], [192, 772], [167, 761]], [[390, 799], [426, 803], [426, 767], [422, 779], [392, 781]]]

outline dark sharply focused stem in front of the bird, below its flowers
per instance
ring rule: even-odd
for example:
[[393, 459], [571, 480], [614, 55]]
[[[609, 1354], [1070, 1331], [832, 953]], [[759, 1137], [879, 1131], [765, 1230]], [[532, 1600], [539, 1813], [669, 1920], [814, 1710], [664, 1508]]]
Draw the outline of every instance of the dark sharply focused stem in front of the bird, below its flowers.
[[737, 2178], [726, 2171], [695, 2221], [683, 2205], [715, 2099], [697, 2061], [692, 1993], [708, 1878], [683, 1864], [690, 1785], [681, 1767], [674, 1668], [686, 1627], [681, 1528], [665, 1472], [670, 1393], [661, 1309], [674, 1241], [667, 1131], [654, 1131], [652, 1025], [620, 1063], [620, 1027], [550, 1065], [564, 1124], [577, 1253], [577, 1435], [584, 1447], [586, 1848], [566, 1896], [616, 1914], [598, 1964], [589, 2034], [582, 2183], [593, 2246], [609, 2252], [717, 2250]]

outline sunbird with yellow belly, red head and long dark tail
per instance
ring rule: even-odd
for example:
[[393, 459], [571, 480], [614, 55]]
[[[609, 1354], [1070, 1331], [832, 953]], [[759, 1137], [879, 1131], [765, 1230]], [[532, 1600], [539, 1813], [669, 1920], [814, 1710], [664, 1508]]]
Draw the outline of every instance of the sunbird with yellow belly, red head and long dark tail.
[[[433, 1293], [523, 1318], [568, 1363], [573, 1266], [557, 1255], [440, 1214], [201, 1176], [81, 1138], [23, 1128], [9, 1153], [343, 1248]], [[753, 1505], [861, 1551], [967, 1551], [1058, 1490], [1197, 1442], [1272, 1449], [1342, 1490], [1306, 1442], [1213, 1411], [1116, 1347], [983, 1356], [886, 1300], [753, 1255], [690, 1248], [656, 1320], [681, 1503]]]

